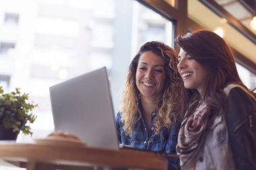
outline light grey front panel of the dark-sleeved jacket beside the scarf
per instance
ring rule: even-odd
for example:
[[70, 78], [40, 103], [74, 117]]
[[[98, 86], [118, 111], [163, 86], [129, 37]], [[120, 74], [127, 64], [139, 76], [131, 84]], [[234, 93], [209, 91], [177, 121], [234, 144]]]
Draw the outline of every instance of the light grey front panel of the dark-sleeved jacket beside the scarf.
[[224, 116], [218, 116], [205, 130], [205, 144], [197, 156], [196, 170], [234, 169], [234, 159], [228, 142]]

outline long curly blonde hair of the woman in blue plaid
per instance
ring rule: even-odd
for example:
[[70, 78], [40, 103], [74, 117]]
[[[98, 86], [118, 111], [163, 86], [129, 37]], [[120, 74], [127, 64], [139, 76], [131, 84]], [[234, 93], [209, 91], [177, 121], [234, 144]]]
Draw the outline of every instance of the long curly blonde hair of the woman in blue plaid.
[[171, 128], [181, 116], [181, 105], [183, 101], [183, 81], [179, 75], [177, 64], [177, 53], [162, 42], [147, 42], [139, 49], [129, 66], [127, 80], [123, 89], [123, 99], [121, 101], [121, 122], [126, 134], [131, 134], [135, 123], [136, 114], [141, 118], [139, 109], [139, 90], [135, 83], [137, 65], [139, 57], [143, 52], [153, 52], [164, 59], [164, 69], [166, 73], [166, 82], [162, 96], [156, 101], [156, 111], [158, 112], [154, 119], [154, 130], [156, 134], [160, 133], [161, 128]]

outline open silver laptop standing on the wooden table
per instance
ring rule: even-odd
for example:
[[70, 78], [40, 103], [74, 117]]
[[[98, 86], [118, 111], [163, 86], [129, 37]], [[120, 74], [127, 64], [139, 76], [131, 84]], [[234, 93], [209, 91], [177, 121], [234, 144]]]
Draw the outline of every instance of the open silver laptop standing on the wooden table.
[[50, 87], [55, 131], [71, 132], [88, 146], [119, 149], [106, 67]]

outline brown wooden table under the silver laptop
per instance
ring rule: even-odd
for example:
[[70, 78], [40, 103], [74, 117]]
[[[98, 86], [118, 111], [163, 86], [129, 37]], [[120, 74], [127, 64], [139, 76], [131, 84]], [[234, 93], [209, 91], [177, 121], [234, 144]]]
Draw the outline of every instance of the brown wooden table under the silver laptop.
[[163, 155], [90, 147], [47, 146], [0, 142], [0, 159], [28, 170], [51, 169], [167, 169]]

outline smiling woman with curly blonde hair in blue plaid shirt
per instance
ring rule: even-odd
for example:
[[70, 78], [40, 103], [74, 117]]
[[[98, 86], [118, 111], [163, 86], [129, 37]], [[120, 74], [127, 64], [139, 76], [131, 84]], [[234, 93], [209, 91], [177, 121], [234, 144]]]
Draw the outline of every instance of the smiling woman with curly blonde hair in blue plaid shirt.
[[[166, 154], [176, 153], [183, 83], [177, 53], [161, 42], [147, 42], [129, 66], [117, 129], [120, 144]], [[169, 169], [179, 169], [170, 159]]]

